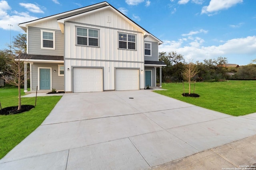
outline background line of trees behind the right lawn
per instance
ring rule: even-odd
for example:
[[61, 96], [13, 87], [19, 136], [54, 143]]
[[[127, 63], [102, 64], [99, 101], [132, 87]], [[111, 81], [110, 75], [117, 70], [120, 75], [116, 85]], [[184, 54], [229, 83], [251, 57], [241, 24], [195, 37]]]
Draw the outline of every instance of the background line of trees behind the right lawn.
[[[174, 51], [159, 53], [159, 61], [163, 61], [167, 66], [162, 67], [163, 82], [182, 82], [184, 68], [191, 63], [186, 62], [184, 56]], [[227, 67], [228, 59], [226, 57], [218, 57], [217, 59], [204, 59], [203, 62], [196, 61], [194, 64], [197, 68], [197, 74], [193, 80], [200, 81], [219, 81], [227, 78], [237, 79], [254, 79], [256, 78], [256, 59], [252, 63], [236, 67]], [[159, 71], [159, 69], [158, 69]], [[233, 72], [234, 76], [230, 77], [228, 72]]]

